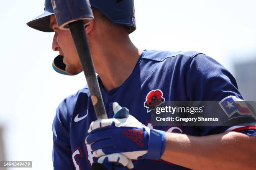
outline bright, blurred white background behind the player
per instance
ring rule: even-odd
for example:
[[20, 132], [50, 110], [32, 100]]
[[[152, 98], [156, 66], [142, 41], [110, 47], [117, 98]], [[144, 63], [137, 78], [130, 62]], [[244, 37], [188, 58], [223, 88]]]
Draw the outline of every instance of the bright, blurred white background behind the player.
[[[137, 47], [205, 53], [230, 70], [246, 100], [256, 100], [255, 0], [135, 0], [135, 10]], [[44, 0], [0, 5], [0, 161], [32, 161], [36, 170], [53, 169], [56, 107], [85, 85], [83, 73], [52, 69], [54, 33], [26, 26], [43, 11]]]

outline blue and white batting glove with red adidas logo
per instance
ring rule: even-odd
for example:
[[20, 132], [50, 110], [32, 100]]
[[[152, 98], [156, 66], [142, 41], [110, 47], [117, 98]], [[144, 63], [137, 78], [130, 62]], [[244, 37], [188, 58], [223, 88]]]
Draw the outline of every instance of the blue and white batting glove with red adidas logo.
[[165, 132], [146, 127], [129, 110], [113, 103], [111, 119], [92, 122], [85, 143], [96, 158], [122, 153], [128, 159], [160, 159], [165, 149]]

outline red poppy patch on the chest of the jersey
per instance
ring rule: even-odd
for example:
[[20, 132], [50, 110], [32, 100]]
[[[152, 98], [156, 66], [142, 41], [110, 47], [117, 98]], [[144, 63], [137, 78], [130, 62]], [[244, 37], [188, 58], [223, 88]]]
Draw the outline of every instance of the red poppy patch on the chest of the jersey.
[[159, 89], [152, 90], [148, 93], [146, 101], [144, 102], [144, 107], [147, 108], [147, 112], [151, 112], [151, 109], [155, 109], [156, 106], [164, 103], [163, 92]]

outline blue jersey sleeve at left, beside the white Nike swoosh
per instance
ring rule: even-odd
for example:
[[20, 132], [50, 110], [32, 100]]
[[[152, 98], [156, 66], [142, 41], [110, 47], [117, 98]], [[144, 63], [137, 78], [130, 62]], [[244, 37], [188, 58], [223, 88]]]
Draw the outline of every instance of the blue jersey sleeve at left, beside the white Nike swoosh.
[[74, 169], [72, 151], [69, 140], [69, 120], [66, 100], [56, 109], [53, 130], [53, 165], [56, 170]]

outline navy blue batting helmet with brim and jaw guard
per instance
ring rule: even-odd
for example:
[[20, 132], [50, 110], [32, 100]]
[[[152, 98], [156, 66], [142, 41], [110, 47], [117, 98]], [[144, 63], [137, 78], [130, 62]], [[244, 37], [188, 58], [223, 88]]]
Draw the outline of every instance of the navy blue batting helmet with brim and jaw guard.
[[[131, 33], [136, 30], [134, 1], [133, 0], [90, 0], [91, 7], [100, 10], [109, 20], [118, 25], [124, 25]], [[49, 27], [50, 16], [54, 15], [51, 0], [45, 0], [44, 13], [34, 18], [27, 25], [36, 30], [44, 32], [54, 32]], [[55, 71], [67, 75], [65, 72], [65, 64], [62, 62], [63, 57], [57, 56], [53, 62]]]

